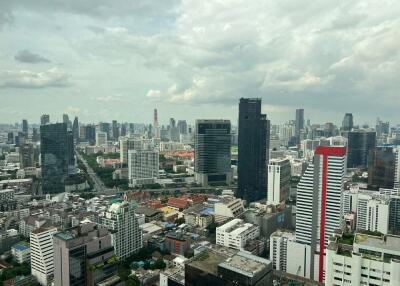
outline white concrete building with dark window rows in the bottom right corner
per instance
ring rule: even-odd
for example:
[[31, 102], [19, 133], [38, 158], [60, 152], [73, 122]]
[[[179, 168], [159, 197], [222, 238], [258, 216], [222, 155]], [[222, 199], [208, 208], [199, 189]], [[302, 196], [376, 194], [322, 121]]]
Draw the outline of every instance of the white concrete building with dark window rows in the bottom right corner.
[[330, 242], [325, 285], [400, 285], [400, 237], [356, 233]]

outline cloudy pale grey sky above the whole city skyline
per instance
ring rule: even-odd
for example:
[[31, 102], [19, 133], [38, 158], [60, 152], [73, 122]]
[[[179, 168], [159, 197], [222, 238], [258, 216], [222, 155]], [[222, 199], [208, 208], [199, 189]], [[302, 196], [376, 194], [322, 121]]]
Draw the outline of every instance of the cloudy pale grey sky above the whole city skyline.
[[400, 123], [400, 1], [0, 0], [0, 122]]

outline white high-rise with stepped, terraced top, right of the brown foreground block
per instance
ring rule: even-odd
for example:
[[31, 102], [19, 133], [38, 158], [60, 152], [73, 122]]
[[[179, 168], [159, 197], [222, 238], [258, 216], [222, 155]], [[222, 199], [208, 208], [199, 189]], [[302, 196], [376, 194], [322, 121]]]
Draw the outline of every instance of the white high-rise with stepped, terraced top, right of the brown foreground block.
[[135, 208], [135, 204], [128, 202], [114, 203], [101, 217], [101, 224], [111, 230], [115, 255], [119, 259], [130, 257], [143, 244]]

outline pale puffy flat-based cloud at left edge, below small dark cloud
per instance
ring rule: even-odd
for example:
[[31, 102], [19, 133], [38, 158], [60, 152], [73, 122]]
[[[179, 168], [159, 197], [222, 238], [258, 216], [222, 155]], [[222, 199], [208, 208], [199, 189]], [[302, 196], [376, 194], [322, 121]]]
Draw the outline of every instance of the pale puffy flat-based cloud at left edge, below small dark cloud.
[[67, 87], [68, 76], [56, 68], [44, 72], [27, 70], [0, 72], [0, 87], [4, 88], [46, 88]]

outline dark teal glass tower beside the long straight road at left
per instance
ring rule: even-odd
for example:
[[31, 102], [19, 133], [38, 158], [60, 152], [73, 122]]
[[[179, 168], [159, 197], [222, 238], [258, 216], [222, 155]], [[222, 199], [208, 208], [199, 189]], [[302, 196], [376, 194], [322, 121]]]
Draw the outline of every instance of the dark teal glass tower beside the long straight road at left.
[[67, 125], [65, 123], [40, 126], [40, 152], [42, 166], [42, 190], [47, 193], [62, 193], [68, 176]]

